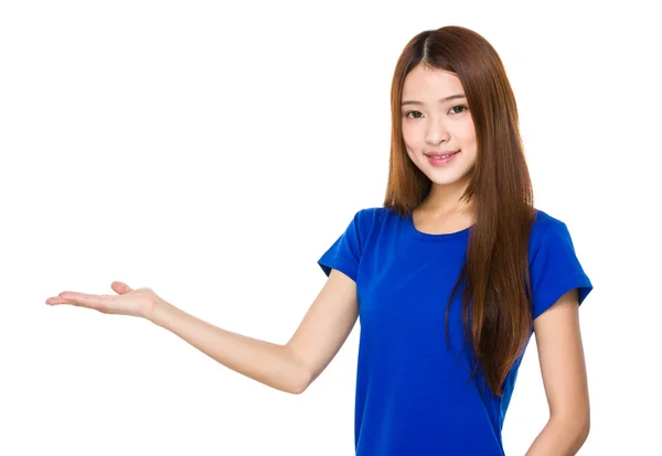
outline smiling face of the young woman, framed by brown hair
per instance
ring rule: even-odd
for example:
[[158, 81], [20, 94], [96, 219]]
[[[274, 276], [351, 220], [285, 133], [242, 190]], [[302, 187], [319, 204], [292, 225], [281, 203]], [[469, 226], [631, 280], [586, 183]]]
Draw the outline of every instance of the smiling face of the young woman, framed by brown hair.
[[[460, 79], [418, 65], [405, 78], [402, 101], [403, 139], [409, 159], [433, 184], [468, 184], [477, 144]], [[458, 153], [444, 155], [452, 152]]]

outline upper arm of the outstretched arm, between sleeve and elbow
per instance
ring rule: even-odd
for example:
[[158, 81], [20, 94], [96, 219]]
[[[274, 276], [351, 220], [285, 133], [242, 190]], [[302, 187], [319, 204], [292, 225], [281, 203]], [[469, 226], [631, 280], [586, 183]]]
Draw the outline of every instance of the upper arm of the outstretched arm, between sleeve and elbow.
[[308, 388], [335, 357], [359, 316], [356, 283], [332, 269], [287, 347], [308, 373]]

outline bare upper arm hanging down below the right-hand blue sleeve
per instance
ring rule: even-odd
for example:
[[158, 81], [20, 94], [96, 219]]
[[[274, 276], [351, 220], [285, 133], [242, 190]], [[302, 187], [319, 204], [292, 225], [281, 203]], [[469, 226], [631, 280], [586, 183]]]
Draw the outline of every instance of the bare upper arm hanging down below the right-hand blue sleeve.
[[578, 307], [577, 289], [572, 289], [533, 321], [533, 328], [551, 416], [572, 417], [588, 425], [588, 386]]

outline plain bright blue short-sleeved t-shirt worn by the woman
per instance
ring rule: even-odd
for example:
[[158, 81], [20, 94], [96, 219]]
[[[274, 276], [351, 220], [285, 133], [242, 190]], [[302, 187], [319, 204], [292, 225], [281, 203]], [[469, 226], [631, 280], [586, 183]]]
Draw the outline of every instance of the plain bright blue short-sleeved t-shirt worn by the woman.
[[[462, 286], [446, 307], [465, 261], [469, 228], [418, 231], [412, 216], [366, 208], [320, 258], [356, 282], [361, 327], [354, 442], [359, 456], [503, 455], [501, 430], [522, 357], [491, 393], [474, 357], [461, 352]], [[565, 292], [592, 290], [564, 222], [537, 210], [530, 240], [533, 317]], [[468, 346], [467, 346], [468, 347]], [[459, 355], [458, 355], [459, 354]]]

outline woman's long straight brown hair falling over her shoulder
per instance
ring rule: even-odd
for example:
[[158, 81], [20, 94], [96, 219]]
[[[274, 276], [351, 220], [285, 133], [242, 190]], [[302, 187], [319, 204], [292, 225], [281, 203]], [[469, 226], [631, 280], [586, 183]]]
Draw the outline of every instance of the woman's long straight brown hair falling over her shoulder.
[[533, 189], [519, 131], [515, 98], [501, 58], [478, 33], [445, 26], [419, 33], [401, 54], [391, 89], [392, 137], [384, 206], [409, 216], [428, 195], [430, 180], [408, 158], [402, 130], [405, 77], [418, 64], [460, 79], [473, 119], [478, 153], [461, 199], [473, 203], [467, 258], [446, 310], [465, 281], [462, 322], [490, 390], [502, 384], [531, 337], [528, 238]]

